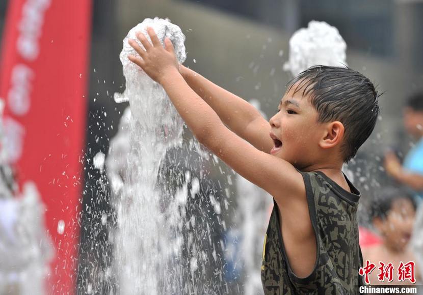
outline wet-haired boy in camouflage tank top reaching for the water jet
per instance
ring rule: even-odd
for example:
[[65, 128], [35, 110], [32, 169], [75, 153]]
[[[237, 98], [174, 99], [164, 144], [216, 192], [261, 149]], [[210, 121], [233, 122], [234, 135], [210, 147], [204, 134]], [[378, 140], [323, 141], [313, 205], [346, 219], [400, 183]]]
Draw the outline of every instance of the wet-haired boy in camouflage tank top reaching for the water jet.
[[[160, 83], [195, 137], [274, 198], [263, 249], [266, 294], [356, 294], [361, 280], [359, 192], [341, 172], [371, 134], [378, 94], [347, 68], [313, 67], [289, 84], [270, 120], [178, 65], [152, 28], [128, 56]], [[201, 97], [200, 97], [201, 96]], [[228, 128], [226, 126], [228, 126]]]

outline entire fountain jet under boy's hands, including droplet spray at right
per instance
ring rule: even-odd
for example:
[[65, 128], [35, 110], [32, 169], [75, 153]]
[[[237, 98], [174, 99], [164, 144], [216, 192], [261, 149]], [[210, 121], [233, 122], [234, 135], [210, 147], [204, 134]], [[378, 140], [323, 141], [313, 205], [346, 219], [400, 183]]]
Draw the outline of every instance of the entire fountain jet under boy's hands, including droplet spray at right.
[[209, 154], [195, 139], [182, 141], [183, 121], [163, 88], [127, 60], [135, 54], [128, 38], [137, 31], [146, 34], [147, 26], [162, 44], [165, 37], [172, 40], [180, 63], [186, 58], [185, 37], [168, 20], [146, 19], [124, 39], [120, 58], [126, 89], [114, 97], [130, 107], [105, 159], [117, 213], [109, 237], [114, 245], [110, 273], [120, 294], [227, 293], [221, 193], [206, 176]]

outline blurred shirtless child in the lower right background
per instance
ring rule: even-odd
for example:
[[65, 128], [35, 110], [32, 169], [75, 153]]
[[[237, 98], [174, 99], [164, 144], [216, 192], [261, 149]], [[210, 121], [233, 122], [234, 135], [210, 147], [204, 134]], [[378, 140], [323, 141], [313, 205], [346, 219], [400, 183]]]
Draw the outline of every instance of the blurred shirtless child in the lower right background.
[[[415, 217], [415, 203], [412, 196], [398, 189], [389, 188], [383, 190], [373, 205], [372, 218], [373, 226], [382, 238], [382, 243], [376, 246], [363, 248], [364, 259], [376, 264], [378, 268], [379, 261], [385, 265], [391, 262], [395, 268], [393, 280], [387, 279], [380, 281], [378, 279], [378, 270], [375, 269], [369, 274], [369, 281], [375, 284], [410, 284], [408, 280], [399, 281], [396, 276], [396, 268], [400, 262], [407, 263], [414, 261], [413, 253], [408, 249]], [[416, 265], [417, 266], [417, 265]], [[417, 272], [417, 269], [415, 269]], [[417, 276], [416, 276], [417, 277]]]

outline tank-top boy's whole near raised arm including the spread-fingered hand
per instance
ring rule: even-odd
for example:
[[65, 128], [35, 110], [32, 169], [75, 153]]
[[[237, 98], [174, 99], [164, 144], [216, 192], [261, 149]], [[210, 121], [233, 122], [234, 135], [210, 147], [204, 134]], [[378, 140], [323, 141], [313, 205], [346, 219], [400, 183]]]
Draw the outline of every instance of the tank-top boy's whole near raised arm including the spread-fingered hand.
[[138, 38], [146, 50], [130, 41], [141, 58], [129, 56], [129, 60], [162, 84], [187, 126], [202, 144], [244, 178], [269, 192], [280, 205], [294, 208], [299, 203], [295, 196], [305, 196], [302, 175], [290, 163], [257, 150], [226, 128], [216, 112], [180, 75], [170, 40], [165, 40], [164, 49], [151, 28], [148, 33], [153, 45], [139, 34]]

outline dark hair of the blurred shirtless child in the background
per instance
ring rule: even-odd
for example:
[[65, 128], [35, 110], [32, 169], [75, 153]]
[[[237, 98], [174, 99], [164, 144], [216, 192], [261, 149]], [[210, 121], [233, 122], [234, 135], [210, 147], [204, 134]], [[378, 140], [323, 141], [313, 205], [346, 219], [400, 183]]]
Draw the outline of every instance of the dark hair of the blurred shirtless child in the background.
[[371, 219], [381, 218], [385, 219], [389, 211], [392, 209], [392, 203], [395, 200], [408, 199], [413, 204], [416, 210], [416, 202], [412, 194], [405, 188], [388, 187], [382, 189], [374, 197], [371, 206]]

